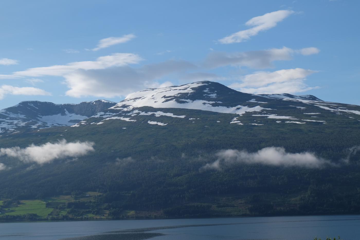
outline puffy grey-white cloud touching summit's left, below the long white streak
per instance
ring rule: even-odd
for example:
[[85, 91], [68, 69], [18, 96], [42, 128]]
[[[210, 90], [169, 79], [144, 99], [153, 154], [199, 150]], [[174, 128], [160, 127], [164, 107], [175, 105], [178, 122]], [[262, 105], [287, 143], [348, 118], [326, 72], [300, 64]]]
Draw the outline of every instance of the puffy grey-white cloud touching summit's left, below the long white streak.
[[129, 66], [103, 70], [78, 70], [65, 76], [70, 88], [66, 95], [71, 97], [119, 97], [143, 88], [172, 85], [159, 84], [154, 80], [165, 75], [194, 69], [195, 65], [186, 61], [169, 60], [140, 68]]

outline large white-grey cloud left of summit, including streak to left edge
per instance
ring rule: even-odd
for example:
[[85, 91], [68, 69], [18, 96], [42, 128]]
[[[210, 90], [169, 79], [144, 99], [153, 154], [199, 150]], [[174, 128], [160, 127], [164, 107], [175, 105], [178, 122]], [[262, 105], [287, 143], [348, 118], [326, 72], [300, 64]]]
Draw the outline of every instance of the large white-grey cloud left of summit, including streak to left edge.
[[[197, 68], [187, 61], [169, 60], [138, 68], [127, 66], [143, 60], [137, 54], [115, 53], [99, 57], [96, 61], [72, 62], [66, 65], [28, 68], [10, 75], [0, 75], [0, 79], [25, 78], [31, 84], [41, 80], [35, 77], [62, 76], [69, 87], [66, 95], [72, 97], [119, 97], [144, 88], [173, 85], [169, 81], [158, 80], [169, 74], [176, 74]], [[25, 89], [24, 89], [25, 90]], [[31, 90], [31, 89], [28, 89]]]

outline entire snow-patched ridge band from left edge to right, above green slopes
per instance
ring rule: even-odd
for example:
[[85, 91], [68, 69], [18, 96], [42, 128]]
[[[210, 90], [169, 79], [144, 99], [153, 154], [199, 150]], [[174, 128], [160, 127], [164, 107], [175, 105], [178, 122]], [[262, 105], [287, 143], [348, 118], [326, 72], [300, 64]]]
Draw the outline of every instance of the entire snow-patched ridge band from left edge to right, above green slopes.
[[[194, 117], [194, 111], [201, 117]], [[216, 123], [231, 125], [276, 125], [279, 128], [282, 124], [360, 123], [360, 106], [325, 102], [313, 95], [248, 94], [220, 83], [201, 81], [145, 89], [127, 95], [117, 104], [105, 100], [63, 105], [21, 102], [0, 111], [0, 128], [2, 132], [14, 133], [51, 126], [98, 126], [113, 121], [178, 126], [179, 120], [182, 124], [194, 124], [211, 112], [219, 114]], [[210, 125], [201, 121], [204, 126]]]

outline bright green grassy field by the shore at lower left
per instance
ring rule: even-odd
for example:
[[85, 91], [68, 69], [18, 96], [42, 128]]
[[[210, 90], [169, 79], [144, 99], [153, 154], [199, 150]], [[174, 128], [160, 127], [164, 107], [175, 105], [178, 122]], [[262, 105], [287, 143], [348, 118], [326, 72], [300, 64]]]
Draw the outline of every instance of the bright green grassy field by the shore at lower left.
[[46, 203], [41, 200], [22, 200], [17, 207], [10, 208], [10, 211], [7, 211], [6, 214], [23, 215], [33, 213], [45, 218], [53, 211], [53, 208], [46, 208], [45, 204]]

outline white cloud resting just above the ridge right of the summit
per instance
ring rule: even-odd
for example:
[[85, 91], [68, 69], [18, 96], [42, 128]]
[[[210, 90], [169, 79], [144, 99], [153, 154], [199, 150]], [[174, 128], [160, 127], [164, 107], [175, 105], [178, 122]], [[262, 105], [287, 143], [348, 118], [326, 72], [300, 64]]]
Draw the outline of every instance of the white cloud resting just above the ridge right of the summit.
[[305, 84], [306, 77], [315, 72], [317, 71], [302, 68], [255, 72], [244, 76], [242, 83], [233, 83], [229, 87], [240, 92], [256, 94], [305, 92], [317, 88]]

